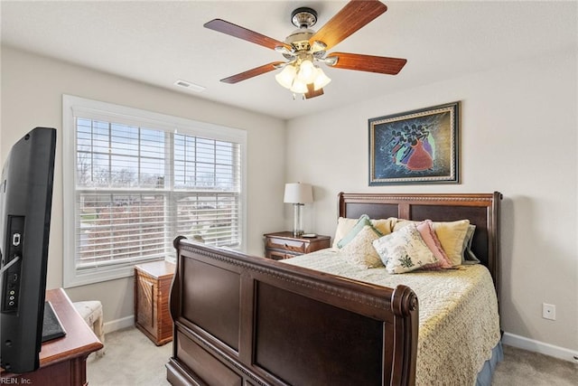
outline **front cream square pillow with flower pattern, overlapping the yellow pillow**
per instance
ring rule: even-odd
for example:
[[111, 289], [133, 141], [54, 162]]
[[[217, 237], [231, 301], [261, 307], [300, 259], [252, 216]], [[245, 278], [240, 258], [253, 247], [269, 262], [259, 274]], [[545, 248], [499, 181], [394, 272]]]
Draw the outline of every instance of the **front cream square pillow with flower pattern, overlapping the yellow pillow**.
[[441, 264], [425, 244], [415, 223], [373, 241], [373, 247], [389, 273], [435, 268]]

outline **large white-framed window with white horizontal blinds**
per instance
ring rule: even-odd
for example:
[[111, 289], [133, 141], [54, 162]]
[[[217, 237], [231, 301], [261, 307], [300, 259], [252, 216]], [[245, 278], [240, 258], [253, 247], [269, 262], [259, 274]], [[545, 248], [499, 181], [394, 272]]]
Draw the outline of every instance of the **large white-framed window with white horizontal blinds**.
[[70, 96], [63, 117], [65, 287], [174, 256], [177, 235], [242, 248], [245, 131]]

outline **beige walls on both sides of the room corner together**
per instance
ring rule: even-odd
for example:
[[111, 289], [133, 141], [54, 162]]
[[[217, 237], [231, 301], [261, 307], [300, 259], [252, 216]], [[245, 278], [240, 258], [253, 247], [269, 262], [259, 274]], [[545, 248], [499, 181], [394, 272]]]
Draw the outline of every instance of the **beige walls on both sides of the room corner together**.
[[[285, 182], [314, 185], [315, 202], [305, 206], [305, 230], [322, 234], [334, 231], [340, 191], [498, 190], [504, 193], [503, 329], [578, 351], [576, 68], [575, 52], [560, 53], [352, 102], [285, 124], [3, 47], [0, 154], [35, 126], [60, 129], [63, 93], [247, 129], [247, 250], [253, 254], [262, 253], [264, 232], [292, 226], [290, 208], [279, 198]], [[461, 184], [368, 187], [368, 118], [455, 100], [461, 101]], [[49, 287], [62, 282], [61, 160], [59, 137]], [[285, 165], [285, 160], [291, 162]], [[68, 292], [73, 300], [103, 301], [105, 318], [111, 321], [133, 314], [132, 286], [131, 278]], [[542, 303], [555, 304], [556, 321], [541, 317]]]

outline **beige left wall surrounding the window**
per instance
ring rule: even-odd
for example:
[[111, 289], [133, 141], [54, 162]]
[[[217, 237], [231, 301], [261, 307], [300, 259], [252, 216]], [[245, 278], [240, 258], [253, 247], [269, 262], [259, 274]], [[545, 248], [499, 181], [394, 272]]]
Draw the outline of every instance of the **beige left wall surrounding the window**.
[[[142, 108], [247, 130], [247, 251], [263, 255], [263, 233], [284, 226], [283, 120], [159, 89], [2, 47], [2, 159], [33, 127], [62, 127], [62, 94]], [[62, 286], [62, 136], [57, 132], [47, 287]], [[133, 315], [133, 278], [67, 289], [75, 300], [99, 299], [105, 321]]]

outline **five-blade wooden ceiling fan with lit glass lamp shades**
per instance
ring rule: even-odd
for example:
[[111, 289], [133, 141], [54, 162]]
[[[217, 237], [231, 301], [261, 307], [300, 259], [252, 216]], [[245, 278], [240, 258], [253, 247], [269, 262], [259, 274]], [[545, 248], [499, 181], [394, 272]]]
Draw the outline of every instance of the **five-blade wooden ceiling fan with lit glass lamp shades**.
[[322, 95], [323, 87], [331, 81], [317, 65], [320, 62], [338, 69], [389, 75], [396, 75], [401, 71], [406, 65], [406, 59], [327, 52], [386, 11], [387, 6], [378, 0], [351, 0], [319, 31], [314, 32], [311, 27], [317, 23], [317, 13], [312, 8], [297, 8], [291, 14], [291, 22], [298, 29], [287, 36], [284, 42], [221, 19], [211, 20], [204, 26], [280, 52], [286, 60], [273, 61], [220, 81], [237, 83], [269, 71], [283, 69], [275, 76], [277, 82], [293, 91], [294, 95], [302, 94], [304, 99], [311, 99]]

